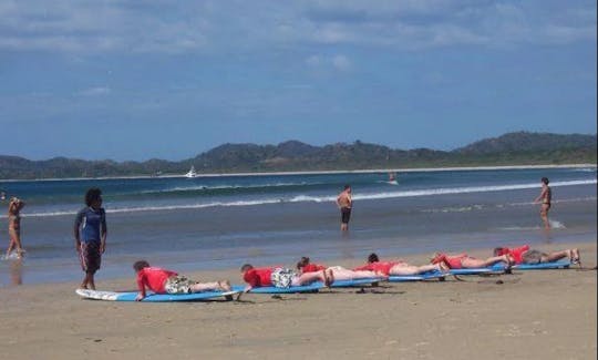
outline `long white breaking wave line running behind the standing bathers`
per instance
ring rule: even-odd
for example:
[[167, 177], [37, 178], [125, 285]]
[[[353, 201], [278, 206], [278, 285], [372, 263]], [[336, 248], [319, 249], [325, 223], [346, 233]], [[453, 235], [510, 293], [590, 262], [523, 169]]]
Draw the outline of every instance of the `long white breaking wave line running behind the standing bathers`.
[[[574, 185], [591, 185], [597, 184], [596, 179], [588, 181], [569, 181], [569, 182], [555, 182], [551, 183], [553, 187], [558, 186], [574, 186]], [[413, 189], [413, 191], [395, 191], [395, 192], [382, 192], [371, 194], [357, 194], [353, 196], [355, 200], [371, 200], [371, 199], [385, 199], [385, 198], [399, 198], [399, 197], [416, 197], [416, 196], [434, 196], [434, 195], [450, 195], [450, 194], [467, 194], [467, 193], [486, 193], [486, 192], [502, 192], [502, 191], [515, 191], [526, 188], [537, 188], [538, 184], [513, 184], [513, 185], [493, 185], [493, 186], [470, 186], [470, 187], [447, 187], [447, 188], [427, 188], [427, 189]], [[262, 197], [257, 199], [236, 199], [236, 200], [218, 200], [208, 203], [195, 203], [195, 204], [176, 204], [176, 205], [151, 205], [151, 206], [133, 206], [133, 207], [112, 207], [106, 208], [106, 213], [135, 213], [135, 212], [164, 212], [164, 210], [178, 210], [178, 209], [200, 209], [210, 207], [227, 207], [227, 206], [258, 206], [268, 204], [280, 203], [331, 203], [337, 198], [334, 195], [297, 195], [291, 198], [283, 197]], [[509, 205], [528, 205], [532, 203], [517, 203]], [[477, 205], [471, 205], [470, 207], [476, 207]], [[457, 212], [466, 212], [471, 208], [467, 206], [460, 207]], [[73, 210], [55, 210], [55, 212], [40, 212], [23, 214], [23, 217], [44, 217], [44, 216], [65, 216], [75, 215], [79, 209]], [[0, 218], [6, 215], [0, 216]]]

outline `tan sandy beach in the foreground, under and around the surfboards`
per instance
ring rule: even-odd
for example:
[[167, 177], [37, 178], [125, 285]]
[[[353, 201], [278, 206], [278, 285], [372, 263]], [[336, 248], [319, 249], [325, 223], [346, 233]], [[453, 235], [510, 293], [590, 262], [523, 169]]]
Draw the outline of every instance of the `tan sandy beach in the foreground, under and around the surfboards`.
[[[537, 247], [563, 247], [555, 246]], [[576, 246], [584, 267], [595, 267], [596, 239]], [[422, 264], [426, 256], [405, 259]], [[336, 263], [328, 265], [360, 261]], [[189, 275], [240, 284], [237, 269]], [[596, 359], [596, 270], [515, 270], [381, 284], [364, 294], [184, 304], [91, 301], [74, 294], [78, 284], [24, 285], [0, 289], [0, 358]], [[133, 270], [118, 280], [99, 272], [96, 282], [100, 290], [135, 289]]]

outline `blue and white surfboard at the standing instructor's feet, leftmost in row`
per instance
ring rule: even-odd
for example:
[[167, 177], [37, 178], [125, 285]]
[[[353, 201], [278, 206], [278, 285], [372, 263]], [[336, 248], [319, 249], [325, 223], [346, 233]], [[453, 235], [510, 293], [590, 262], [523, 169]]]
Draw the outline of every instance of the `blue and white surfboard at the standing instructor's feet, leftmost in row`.
[[[104, 301], [135, 301], [137, 291], [99, 291], [87, 289], [76, 289], [76, 295], [84, 299], [90, 300], [104, 300]], [[172, 302], [172, 301], [200, 301], [219, 297], [229, 297], [239, 291], [203, 291], [194, 294], [153, 294], [147, 292], [147, 296], [142, 302]]]

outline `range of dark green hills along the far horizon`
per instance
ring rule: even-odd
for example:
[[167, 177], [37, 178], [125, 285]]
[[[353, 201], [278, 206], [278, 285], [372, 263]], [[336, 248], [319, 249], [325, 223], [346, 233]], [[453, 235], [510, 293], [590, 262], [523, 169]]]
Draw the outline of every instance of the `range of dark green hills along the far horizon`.
[[0, 178], [157, 176], [184, 174], [193, 165], [202, 173], [350, 171], [372, 168], [596, 164], [597, 136], [581, 134], [508, 133], [454, 151], [393, 150], [355, 141], [312, 146], [299, 141], [278, 145], [223, 144], [181, 162], [84, 161], [54, 157], [30, 161], [0, 156]]

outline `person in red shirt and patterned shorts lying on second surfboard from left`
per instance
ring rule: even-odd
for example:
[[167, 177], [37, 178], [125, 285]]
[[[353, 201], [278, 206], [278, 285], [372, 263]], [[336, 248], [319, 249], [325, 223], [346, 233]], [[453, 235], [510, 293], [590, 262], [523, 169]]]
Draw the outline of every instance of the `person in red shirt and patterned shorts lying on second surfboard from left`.
[[247, 282], [244, 292], [249, 292], [252, 288], [274, 286], [277, 288], [288, 288], [291, 286], [309, 285], [313, 281], [322, 281], [326, 286], [332, 285], [334, 275], [329, 270], [297, 274], [283, 267], [255, 268], [251, 264], [241, 267], [243, 280]]

